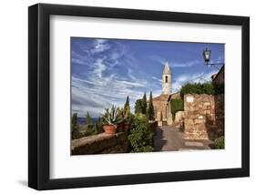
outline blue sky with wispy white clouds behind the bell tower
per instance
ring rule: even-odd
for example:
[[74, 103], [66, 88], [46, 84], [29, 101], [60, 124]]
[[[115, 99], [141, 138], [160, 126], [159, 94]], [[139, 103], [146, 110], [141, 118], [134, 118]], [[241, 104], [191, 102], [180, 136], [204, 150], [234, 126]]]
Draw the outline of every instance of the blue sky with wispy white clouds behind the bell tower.
[[204, 66], [206, 47], [211, 62], [224, 62], [223, 44], [71, 37], [72, 112], [99, 117], [105, 107], [123, 107], [127, 96], [132, 110], [144, 92], [159, 96], [166, 60], [172, 93], [188, 82], [208, 81], [220, 66]]

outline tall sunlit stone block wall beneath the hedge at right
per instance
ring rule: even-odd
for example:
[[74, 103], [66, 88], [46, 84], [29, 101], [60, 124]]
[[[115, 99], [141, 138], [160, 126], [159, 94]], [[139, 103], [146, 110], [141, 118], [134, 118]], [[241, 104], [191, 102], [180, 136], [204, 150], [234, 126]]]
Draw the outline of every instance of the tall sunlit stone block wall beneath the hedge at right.
[[223, 135], [224, 95], [185, 95], [184, 132], [191, 139], [214, 139]]

